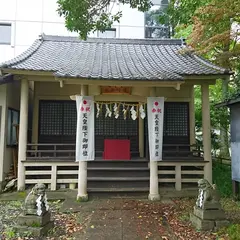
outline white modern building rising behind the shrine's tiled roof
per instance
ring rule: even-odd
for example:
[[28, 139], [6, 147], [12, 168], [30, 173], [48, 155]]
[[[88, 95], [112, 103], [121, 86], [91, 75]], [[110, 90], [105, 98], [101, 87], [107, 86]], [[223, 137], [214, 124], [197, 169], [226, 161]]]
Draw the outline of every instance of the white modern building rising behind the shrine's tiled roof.
[[[153, 9], [161, 2], [154, 0]], [[41, 33], [47, 35], [77, 36], [65, 28], [64, 18], [57, 13], [56, 0], [0, 0], [0, 62], [11, 59], [26, 50]], [[93, 33], [91, 37], [144, 38], [145, 14], [129, 5], [112, 3], [109, 11], [122, 11], [120, 23], [105, 33]], [[154, 26], [156, 21], [152, 21]], [[154, 33], [152, 34], [154, 36]]]

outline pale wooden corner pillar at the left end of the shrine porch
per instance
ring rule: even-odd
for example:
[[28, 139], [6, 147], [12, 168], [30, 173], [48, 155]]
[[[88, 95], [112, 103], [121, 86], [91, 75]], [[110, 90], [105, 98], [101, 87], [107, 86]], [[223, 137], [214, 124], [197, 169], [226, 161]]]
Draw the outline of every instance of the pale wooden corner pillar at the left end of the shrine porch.
[[25, 189], [25, 167], [22, 161], [26, 160], [28, 136], [28, 80], [21, 80], [20, 96], [20, 124], [18, 143], [18, 191]]

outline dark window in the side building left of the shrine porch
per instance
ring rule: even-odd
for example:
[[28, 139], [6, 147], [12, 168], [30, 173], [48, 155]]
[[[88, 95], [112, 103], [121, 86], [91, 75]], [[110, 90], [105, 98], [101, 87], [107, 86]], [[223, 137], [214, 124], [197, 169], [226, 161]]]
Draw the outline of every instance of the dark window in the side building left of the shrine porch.
[[8, 109], [8, 129], [7, 129], [7, 145], [17, 144], [16, 125], [19, 124], [19, 111]]

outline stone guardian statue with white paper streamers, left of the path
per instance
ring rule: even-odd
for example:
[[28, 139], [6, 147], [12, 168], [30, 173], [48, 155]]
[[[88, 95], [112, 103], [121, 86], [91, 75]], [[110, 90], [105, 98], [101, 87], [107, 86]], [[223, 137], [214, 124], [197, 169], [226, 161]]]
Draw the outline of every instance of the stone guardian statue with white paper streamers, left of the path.
[[42, 183], [36, 184], [25, 199], [25, 215], [42, 216], [49, 210], [46, 196], [46, 186]]

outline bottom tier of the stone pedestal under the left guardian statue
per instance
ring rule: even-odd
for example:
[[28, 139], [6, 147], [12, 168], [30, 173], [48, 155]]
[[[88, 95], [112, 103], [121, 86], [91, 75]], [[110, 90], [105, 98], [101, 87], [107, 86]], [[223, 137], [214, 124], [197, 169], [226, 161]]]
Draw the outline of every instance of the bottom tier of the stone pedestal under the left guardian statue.
[[53, 227], [54, 223], [49, 222], [43, 227], [16, 226], [15, 231], [19, 233], [20, 236], [24, 236], [24, 234], [27, 232], [31, 237], [42, 237], [46, 236], [48, 231]]

